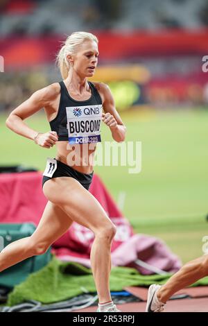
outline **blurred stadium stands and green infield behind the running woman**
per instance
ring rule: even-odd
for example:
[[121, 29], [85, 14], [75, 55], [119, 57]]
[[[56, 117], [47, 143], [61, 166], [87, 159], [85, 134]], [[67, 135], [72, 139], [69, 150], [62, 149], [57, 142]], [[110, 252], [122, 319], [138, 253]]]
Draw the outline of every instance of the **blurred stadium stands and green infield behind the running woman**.
[[[98, 36], [100, 70], [127, 126], [142, 142], [142, 169], [96, 166], [135, 231], [160, 237], [188, 261], [207, 235], [208, 1], [1, 0], [1, 165], [43, 170], [50, 152], [15, 135], [6, 117], [36, 89], [61, 80], [55, 53], [73, 31]], [[49, 130], [44, 112], [27, 120]], [[103, 126], [103, 139], [111, 140]]]

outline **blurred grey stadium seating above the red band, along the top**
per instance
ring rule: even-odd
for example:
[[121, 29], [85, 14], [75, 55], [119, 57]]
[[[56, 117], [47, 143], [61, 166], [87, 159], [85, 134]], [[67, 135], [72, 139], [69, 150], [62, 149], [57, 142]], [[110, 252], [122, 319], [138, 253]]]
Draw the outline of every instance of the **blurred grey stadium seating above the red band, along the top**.
[[208, 26], [208, 0], [1, 0], [0, 35]]

